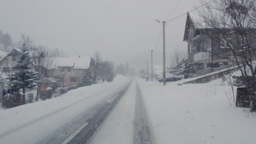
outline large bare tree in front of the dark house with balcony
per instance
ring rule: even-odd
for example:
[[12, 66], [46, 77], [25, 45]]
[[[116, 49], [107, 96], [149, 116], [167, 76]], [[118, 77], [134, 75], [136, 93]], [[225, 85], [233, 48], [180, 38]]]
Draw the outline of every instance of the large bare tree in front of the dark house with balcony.
[[199, 26], [205, 28], [204, 32], [213, 40], [212, 45], [226, 49], [212, 49], [212, 56], [226, 57], [237, 65], [251, 91], [253, 107], [256, 106], [253, 86], [256, 76], [255, 10], [255, 0], [218, 0], [198, 11]]

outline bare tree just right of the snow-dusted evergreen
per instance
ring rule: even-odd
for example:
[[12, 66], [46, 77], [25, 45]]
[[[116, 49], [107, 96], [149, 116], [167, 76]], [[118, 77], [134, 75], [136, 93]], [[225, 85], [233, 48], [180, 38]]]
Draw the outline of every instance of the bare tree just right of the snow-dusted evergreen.
[[42, 86], [44, 79], [50, 76], [49, 69], [53, 69], [54, 58], [53, 54], [45, 46], [39, 45], [31, 47], [31, 55], [34, 61], [34, 67], [38, 72], [38, 87], [36, 100], [39, 98], [39, 89]]

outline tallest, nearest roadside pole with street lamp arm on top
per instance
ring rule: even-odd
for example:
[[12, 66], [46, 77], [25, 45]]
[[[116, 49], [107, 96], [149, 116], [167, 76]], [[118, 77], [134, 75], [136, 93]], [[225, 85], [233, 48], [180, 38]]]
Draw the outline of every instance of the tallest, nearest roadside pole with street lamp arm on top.
[[165, 76], [165, 26], [166, 22], [162, 21], [160, 22], [159, 20], [155, 20], [159, 23], [162, 23], [162, 80], [163, 80], [163, 85], [166, 85], [166, 76]]

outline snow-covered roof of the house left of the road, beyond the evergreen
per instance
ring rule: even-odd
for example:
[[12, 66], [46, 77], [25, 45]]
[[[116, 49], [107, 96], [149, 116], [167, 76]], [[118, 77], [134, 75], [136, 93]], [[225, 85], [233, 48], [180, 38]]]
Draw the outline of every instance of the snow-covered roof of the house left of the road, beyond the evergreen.
[[73, 67], [75, 69], [85, 69], [90, 66], [90, 57], [55, 57], [56, 67]]

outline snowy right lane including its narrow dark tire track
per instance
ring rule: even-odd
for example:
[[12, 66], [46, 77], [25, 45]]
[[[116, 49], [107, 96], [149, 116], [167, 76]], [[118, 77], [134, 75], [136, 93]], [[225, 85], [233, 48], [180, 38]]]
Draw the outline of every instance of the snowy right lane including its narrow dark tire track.
[[133, 81], [91, 143], [155, 143], [147, 113], [138, 83]]

